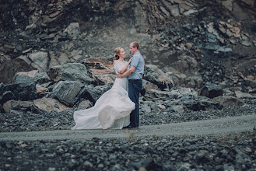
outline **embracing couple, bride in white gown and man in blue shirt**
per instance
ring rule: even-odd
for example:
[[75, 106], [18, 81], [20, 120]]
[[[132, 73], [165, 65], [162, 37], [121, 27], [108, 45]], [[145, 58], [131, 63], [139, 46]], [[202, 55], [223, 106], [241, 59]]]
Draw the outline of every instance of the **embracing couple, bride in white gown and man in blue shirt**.
[[75, 129], [122, 129], [139, 127], [139, 92], [145, 61], [139, 52], [139, 43], [130, 44], [133, 54], [124, 61], [122, 47], [114, 50], [114, 71], [117, 79], [110, 90], [104, 92], [93, 107], [74, 113]]

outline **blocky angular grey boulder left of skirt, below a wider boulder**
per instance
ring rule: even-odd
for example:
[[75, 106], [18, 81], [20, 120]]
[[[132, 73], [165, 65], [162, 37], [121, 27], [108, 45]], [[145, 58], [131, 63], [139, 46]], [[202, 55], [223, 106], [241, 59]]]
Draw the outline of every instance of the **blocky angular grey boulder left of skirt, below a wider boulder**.
[[79, 92], [83, 86], [81, 82], [64, 81], [51, 92], [50, 97], [58, 99], [66, 106], [74, 106], [79, 100]]

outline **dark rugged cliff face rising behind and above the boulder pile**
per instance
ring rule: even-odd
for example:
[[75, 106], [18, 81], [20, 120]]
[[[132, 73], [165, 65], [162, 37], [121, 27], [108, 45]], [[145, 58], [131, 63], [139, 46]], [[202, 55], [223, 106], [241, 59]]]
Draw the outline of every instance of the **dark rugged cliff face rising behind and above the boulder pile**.
[[114, 47], [128, 51], [133, 40], [147, 64], [172, 72], [181, 86], [254, 75], [255, 6], [253, 0], [2, 1], [0, 80], [112, 58]]

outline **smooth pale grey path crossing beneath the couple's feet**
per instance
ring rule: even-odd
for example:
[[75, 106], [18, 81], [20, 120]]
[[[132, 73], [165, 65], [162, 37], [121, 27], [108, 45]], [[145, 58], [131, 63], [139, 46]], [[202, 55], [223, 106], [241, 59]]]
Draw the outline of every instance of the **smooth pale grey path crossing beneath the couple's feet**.
[[2, 132], [0, 141], [37, 141], [37, 140], [81, 140], [91, 138], [127, 138], [132, 136], [183, 136], [196, 134], [232, 134], [252, 131], [256, 124], [256, 115], [225, 117], [213, 120], [198, 120], [184, 123], [149, 125], [132, 130], [61, 130]]

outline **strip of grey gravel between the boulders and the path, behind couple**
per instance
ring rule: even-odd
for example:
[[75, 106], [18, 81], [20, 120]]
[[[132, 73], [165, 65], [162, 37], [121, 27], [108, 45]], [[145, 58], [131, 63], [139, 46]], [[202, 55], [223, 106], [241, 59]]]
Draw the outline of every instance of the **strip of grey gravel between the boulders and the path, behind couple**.
[[[67, 130], [75, 125], [73, 120], [74, 111], [75, 109], [64, 110], [61, 113], [31, 113], [30, 111], [1, 113], [0, 132]], [[140, 126], [159, 125], [251, 115], [256, 113], [256, 103], [249, 101], [238, 108], [230, 107], [211, 111], [189, 110], [184, 113], [174, 113], [160, 109], [158, 112], [146, 112], [144, 109], [140, 109], [140, 111]]]

